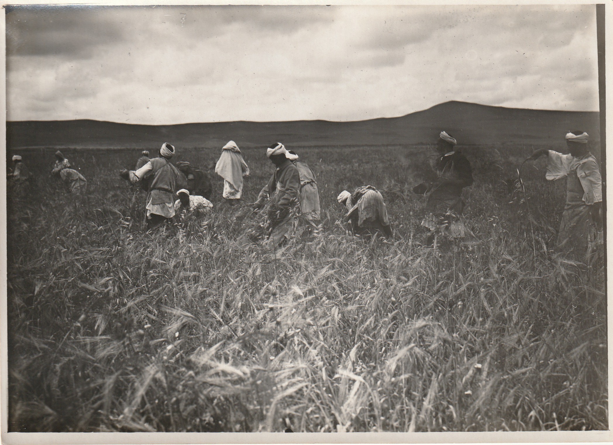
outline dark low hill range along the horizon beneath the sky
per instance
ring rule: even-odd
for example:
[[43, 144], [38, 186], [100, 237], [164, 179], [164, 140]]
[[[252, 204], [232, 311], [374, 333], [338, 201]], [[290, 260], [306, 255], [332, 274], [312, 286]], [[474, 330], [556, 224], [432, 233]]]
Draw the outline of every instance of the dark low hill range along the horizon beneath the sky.
[[133, 125], [96, 120], [7, 122], [7, 148], [94, 147], [220, 148], [230, 139], [238, 146], [266, 146], [275, 141], [305, 145], [412, 145], [432, 143], [446, 130], [462, 145], [563, 145], [569, 130], [584, 130], [600, 140], [598, 112], [528, 110], [446, 102], [402, 117], [358, 122], [218, 122], [180, 125]]

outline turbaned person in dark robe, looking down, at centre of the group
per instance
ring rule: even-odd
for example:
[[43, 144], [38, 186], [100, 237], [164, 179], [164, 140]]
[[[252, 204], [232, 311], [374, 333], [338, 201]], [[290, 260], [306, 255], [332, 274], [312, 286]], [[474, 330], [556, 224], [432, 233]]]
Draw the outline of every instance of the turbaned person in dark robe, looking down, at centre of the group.
[[266, 150], [266, 156], [275, 164], [275, 172], [267, 187], [262, 189], [254, 211], [266, 206], [268, 239], [280, 246], [294, 234], [297, 216], [300, 214], [300, 174], [292, 163], [297, 158], [289, 153], [281, 142], [275, 142]]

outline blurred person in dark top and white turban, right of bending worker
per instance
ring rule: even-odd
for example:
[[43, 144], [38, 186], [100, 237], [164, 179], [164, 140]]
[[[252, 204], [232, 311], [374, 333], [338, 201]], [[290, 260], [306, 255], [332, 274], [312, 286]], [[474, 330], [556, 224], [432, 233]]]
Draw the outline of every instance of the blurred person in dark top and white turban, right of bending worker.
[[462, 219], [462, 189], [473, 185], [473, 170], [456, 145], [454, 137], [441, 131], [436, 142], [438, 155], [432, 164], [436, 179], [413, 188], [414, 193], [427, 196], [421, 225], [431, 232], [428, 244], [434, 242], [437, 233], [462, 238], [468, 231]]

